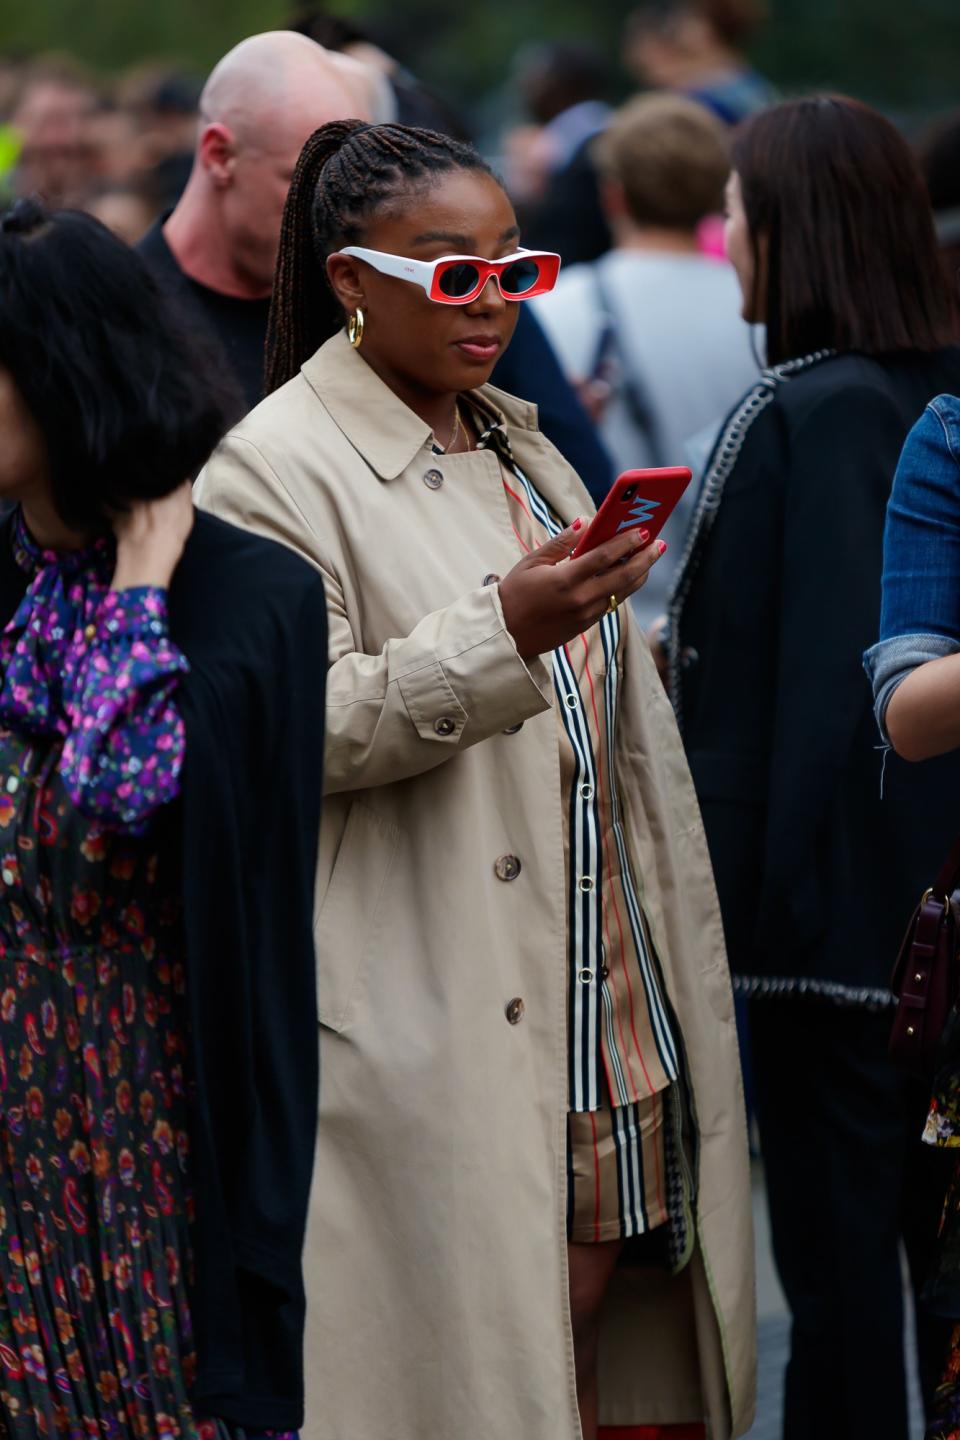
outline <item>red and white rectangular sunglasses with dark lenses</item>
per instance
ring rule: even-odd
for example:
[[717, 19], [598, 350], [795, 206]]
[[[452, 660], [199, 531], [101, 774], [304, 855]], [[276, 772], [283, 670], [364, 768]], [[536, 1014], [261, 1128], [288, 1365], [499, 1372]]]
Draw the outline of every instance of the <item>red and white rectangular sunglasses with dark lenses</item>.
[[440, 305], [469, 305], [482, 294], [491, 275], [504, 300], [533, 300], [557, 284], [560, 256], [550, 251], [515, 251], [502, 261], [484, 261], [476, 255], [442, 255], [439, 261], [410, 261], [386, 251], [347, 245], [341, 255], [353, 255], [373, 265], [381, 275], [396, 275], [422, 285]]

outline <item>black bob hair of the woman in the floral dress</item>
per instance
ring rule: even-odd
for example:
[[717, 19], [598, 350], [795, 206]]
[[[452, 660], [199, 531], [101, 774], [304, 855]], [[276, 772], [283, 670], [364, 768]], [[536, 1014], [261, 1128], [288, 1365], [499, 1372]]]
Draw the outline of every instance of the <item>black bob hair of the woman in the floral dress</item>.
[[89, 215], [17, 200], [0, 216], [0, 366], [46, 444], [65, 524], [168, 495], [226, 428], [204, 346], [145, 264]]

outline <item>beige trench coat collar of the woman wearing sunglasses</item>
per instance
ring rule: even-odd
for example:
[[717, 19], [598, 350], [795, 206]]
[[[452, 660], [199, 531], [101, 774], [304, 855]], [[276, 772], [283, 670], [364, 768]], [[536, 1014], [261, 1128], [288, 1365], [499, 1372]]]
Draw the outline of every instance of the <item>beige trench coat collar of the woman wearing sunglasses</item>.
[[[426, 451], [433, 432], [383, 383], [345, 331], [338, 331], [301, 367], [301, 373], [350, 444], [381, 480], [396, 480]], [[537, 431], [537, 406], [491, 384], [469, 392], [471, 403], [495, 429]]]

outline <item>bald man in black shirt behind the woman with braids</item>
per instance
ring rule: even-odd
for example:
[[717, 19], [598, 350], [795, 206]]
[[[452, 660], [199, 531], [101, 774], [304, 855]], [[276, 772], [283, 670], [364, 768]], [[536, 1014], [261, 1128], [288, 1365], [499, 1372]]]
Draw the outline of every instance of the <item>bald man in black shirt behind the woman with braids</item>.
[[235, 384], [230, 419], [262, 396], [263, 344], [286, 190], [304, 141], [331, 120], [379, 120], [383, 81], [305, 35], [271, 30], [216, 65], [200, 96], [187, 187], [140, 252]]

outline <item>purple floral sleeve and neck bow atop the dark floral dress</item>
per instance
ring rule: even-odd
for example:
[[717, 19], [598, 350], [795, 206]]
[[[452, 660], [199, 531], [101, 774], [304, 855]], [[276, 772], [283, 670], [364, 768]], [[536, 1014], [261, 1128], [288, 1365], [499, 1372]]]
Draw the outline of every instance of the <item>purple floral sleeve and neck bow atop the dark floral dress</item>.
[[33, 579], [0, 635], [0, 724], [60, 734], [76, 808], [141, 834], [180, 792], [186, 752], [174, 694], [190, 667], [170, 639], [166, 590], [111, 590], [109, 540], [42, 550], [20, 511], [13, 553]]

